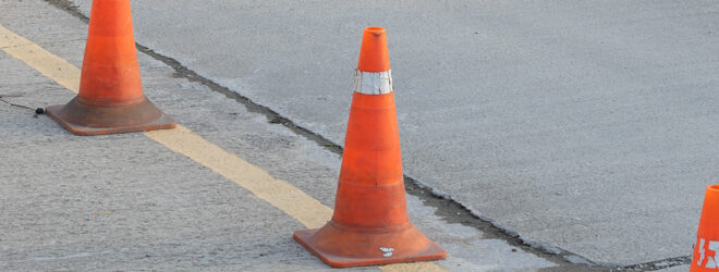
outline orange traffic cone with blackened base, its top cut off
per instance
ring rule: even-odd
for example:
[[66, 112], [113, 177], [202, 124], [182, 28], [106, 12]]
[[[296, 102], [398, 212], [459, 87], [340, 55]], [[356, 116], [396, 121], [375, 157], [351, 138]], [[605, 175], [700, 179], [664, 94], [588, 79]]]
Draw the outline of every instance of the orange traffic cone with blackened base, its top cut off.
[[130, 0], [94, 0], [80, 94], [48, 115], [78, 135], [172, 128], [143, 94]]

